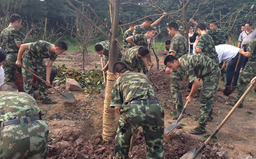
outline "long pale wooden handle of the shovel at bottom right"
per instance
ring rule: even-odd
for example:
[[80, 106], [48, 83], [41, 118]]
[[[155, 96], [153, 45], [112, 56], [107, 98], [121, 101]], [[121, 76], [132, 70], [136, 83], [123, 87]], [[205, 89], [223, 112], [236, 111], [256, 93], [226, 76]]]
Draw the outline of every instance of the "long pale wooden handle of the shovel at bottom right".
[[198, 148], [198, 150], [196, 151], [196, 154], [192, 157], [195, 158], [204, 148], [205, 146], [212, 140], [213, 136], [216, 135], [217, 132], [219, 132], [219, 130], [221, 129], [221, 127], [226, 123], [226, 121], [230, 118], [230, 116], [233, 114], [233, 112], [236, 110], [236, 108], [238, 108], [238, 106], [240, 105], [240, 103], [244, 100], [245, 96], [248, 95], [248, 93], [251, 91], [253, 84], [255, 83], [255, 81], [253, 81], [252, 84], [250, 84], [250, 86], [247, 88], [247, 90], [244, 92], [244, 94], [241, 96], [241, 98], [239, 99], [238, 102], [236, 102], [236, 104], [234, 105], [234, 107], [232, 108], [232, 110], [229, 112], [229, 114], [226, 115], [226, 117], [224, 118], [224, 120], [221, 122], [221, 124], [216, 128], [216, 130], [207, 138], [207, 140], [204, 142], [204, 144]]

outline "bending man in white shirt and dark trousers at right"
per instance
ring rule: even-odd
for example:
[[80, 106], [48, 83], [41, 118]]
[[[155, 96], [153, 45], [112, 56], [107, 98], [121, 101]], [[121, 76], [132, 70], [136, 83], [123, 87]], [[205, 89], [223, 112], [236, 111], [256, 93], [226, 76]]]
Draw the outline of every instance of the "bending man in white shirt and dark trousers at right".
[[[222, 65], [222, 68], [225, 68], [226, 63], [229, 63], [226, 68], [225, 86], [230, 86], [232, 83], [234, 72], [235, 72], [235, 66], [236, 66], [236, 63], [238, 62], [240, 49], [238, 47], [228, 45], [228, 44], [217, 45], [215, 46], [215, 49], [219, 57], [219, 63], [221, 63], [222, 61], [224, 62]], [[238, 70], [236, 71], [236, 74], [235, 74], [233, 86], [236, 86], [236, 83], [238, 82], [239, 72], [243, 65], [244, 59], [245, 59], [245, 56], [241, 55], [241, 58], [238, 64]]]

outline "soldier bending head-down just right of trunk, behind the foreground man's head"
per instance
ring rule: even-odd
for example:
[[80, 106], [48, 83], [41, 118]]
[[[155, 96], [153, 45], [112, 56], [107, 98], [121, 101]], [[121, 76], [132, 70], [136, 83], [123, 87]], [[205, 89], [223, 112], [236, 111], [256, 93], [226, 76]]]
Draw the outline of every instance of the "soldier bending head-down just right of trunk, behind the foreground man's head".
[[143, 61], [145, 69], [147, 70], [147, 57], [149, 55], [149, 50], [146, 46], [134, 46], [127, 49], [122, 55], [121, 61], [124, 62], [130, 71], [138, 72], [140, 68], [139, 62]]

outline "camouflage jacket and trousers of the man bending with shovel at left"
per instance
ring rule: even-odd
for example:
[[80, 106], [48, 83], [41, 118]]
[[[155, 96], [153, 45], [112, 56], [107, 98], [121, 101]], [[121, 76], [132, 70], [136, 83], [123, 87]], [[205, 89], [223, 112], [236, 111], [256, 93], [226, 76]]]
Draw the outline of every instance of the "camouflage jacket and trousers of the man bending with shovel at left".
[[[55, 61], [56, 55], [55, 53], [50, 54], [49, 49], [53, 44], [45, 42], [45, 41], [37, 41], [35, 43], [29, 44], [29, 49], [25, 51], [24, 57], [22, 59], [22, 64], [29, 68], [30, 71], [35, 72], [36, 75], [46, 79], [46, 66], [43, 58], [49, 58], [51, 61]], [[27, 72], [24, 68], [22, 68], [22, 76], [23, 76], [23, 88], [24, 92], [34, 96], [33, 91], [33, 75]], [[48, 98], [48, 86], [41, 80], [37, 80], [37, 86], [39, 90], [39, 96], [41, 100], [46, 100]]]

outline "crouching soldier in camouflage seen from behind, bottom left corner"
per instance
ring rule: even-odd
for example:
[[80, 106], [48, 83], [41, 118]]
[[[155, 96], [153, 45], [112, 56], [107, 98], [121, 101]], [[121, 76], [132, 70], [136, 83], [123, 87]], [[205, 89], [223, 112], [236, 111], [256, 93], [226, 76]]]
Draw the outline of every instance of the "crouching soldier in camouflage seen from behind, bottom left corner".
[[14, 92], [15, 84], [5, 83], [0, 90], [0, 158], [46, 158], [49, 126], [44, 112], [32, 96]]

